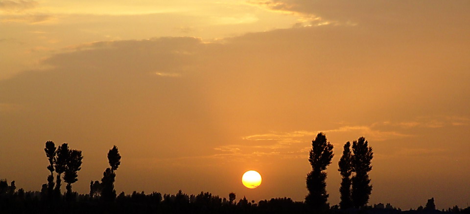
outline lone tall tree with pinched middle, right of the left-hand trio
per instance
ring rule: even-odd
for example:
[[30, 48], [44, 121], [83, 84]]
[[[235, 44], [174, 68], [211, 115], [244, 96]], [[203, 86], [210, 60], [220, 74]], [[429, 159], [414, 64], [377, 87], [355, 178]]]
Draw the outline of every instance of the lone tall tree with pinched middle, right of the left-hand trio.
[[119, 154], [118, 147], [115, 145], [113, 149], [108, 152], [108, 162], [111, 168], [107, 168], [103, 172], [101, 178], [101, 198], [105, 201], [114, 201], [116, 198], [116, 190], [114, 189], [114, 181], [119, 164], [121, 163], [121, 155]]

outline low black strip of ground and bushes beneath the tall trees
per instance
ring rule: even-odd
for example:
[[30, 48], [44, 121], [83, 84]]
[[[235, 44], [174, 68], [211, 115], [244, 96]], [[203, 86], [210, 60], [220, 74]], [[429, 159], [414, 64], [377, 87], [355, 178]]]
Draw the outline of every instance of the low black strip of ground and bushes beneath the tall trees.
[[[120, 193], [114, 202], [100, 198], [92, 198], [89, 194], [72, 194], [74, 200], [67, 201], [66, 195], [58, 200], [47, 199], [47, 189], [43, 192], [24, 192], [23, 189], [12, 191], [6, 187], [6, 181], [1, 181], [0, 213], [1, 214], [312, 214], [312, 210], [304, 202], [293, 201], [290, 198], [272, 198], [270, 200], [248, 201], [245, 197], [236, 201], [235, 193], [229, 194], [229, 199], [221, 198], [211, 193], [188, 195], [181, 191], [176, 194], [161, 193]], [[321, 214], [470, 214], [470, 207], [460, 209], [455, 206], [447, 210], [435, 210], [434, 199], [426, 206], [416, 210], [401, 211], [390, 204], [376, 204], [361, 209], [350, 208], [340, 210], [338, 205], [329, 207]]]

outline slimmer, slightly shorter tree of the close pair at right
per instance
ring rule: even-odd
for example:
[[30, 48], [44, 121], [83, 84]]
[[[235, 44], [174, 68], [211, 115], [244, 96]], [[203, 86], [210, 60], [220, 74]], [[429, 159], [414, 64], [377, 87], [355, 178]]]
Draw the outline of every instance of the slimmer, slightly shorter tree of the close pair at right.
[[344, 145], [343, 156], [339, 160], [339, 169], [341, 178], [341, 187], [339, 188], [340, 199], [339, 206], [341, 209], [348, 209], [352, 207], [351, 199], [351, 173], [352, 173], [352, 154], [351, 154], [351, 143], [348, 141]]

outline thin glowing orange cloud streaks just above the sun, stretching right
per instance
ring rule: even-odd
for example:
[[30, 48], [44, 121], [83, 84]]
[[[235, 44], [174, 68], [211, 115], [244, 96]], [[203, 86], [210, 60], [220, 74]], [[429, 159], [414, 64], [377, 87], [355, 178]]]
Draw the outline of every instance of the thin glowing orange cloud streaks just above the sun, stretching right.
[[[402, 133], [398, 130], [383, 130], [389, 128], [442, 128], [445, 126], [463, 126], [468, 125], [468, 118], [465, 117], [443, 117], [443, 121], [437, 119], [425, 120], [421, 118], [421, 121], [408, 121], [408, 122], [397, 122], [392, 123], [389, 121], [374, 123], [368, 126], [341, 126], [334, 129], [308, 131], [298, 130], [290, 132], [282, 131], [270, 131], [268, 133], [253, 134], [242, 137], [243, 144], [223, 145], [213, 148], [217, 152], [215, 154], [198, 156], [198, 157], [179, 157], [180, 159], [186, 158], [202, 158], [202, 159], [226, 159], [231, 160], [244, 160], [246, 158], [258, 158], [258, 157], [271, 157], [276, 156], [277, 158], [306, 158], [310, 147], [305, 147], [305, 142], [308, 142], [319, 132], [324, 133], [354, 133], [357, 136], [365, 136], [371, 141], [384, 141], [395, 138], [405, 138], [413, 136], [412, 134]], [[460, 122], [459, 122], [460, 121]], [[344, 123], [340, 123], [344, 124]], [[309, 140], [306, 140], [308, 138]], [[447, 150], [435, 148], [403, 148], [393, 152], [391, 155], [383, 155], [383, 157], [389, 156], [434, 156], [442, 154]]]

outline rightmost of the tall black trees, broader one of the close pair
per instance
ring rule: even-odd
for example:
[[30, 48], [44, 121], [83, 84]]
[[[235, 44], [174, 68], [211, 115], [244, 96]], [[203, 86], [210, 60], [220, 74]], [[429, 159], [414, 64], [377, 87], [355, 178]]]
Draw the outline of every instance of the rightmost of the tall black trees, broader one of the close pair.
[[352, 142], [352, 169], [355, 174], [352, 176], [352, 204], [356, 208], [364, 207], [369, 202], [372, 193], [371, 179], [369, 171], [372, 170], [371, 161], [374, 157], [372, 147], [364, 137]]

